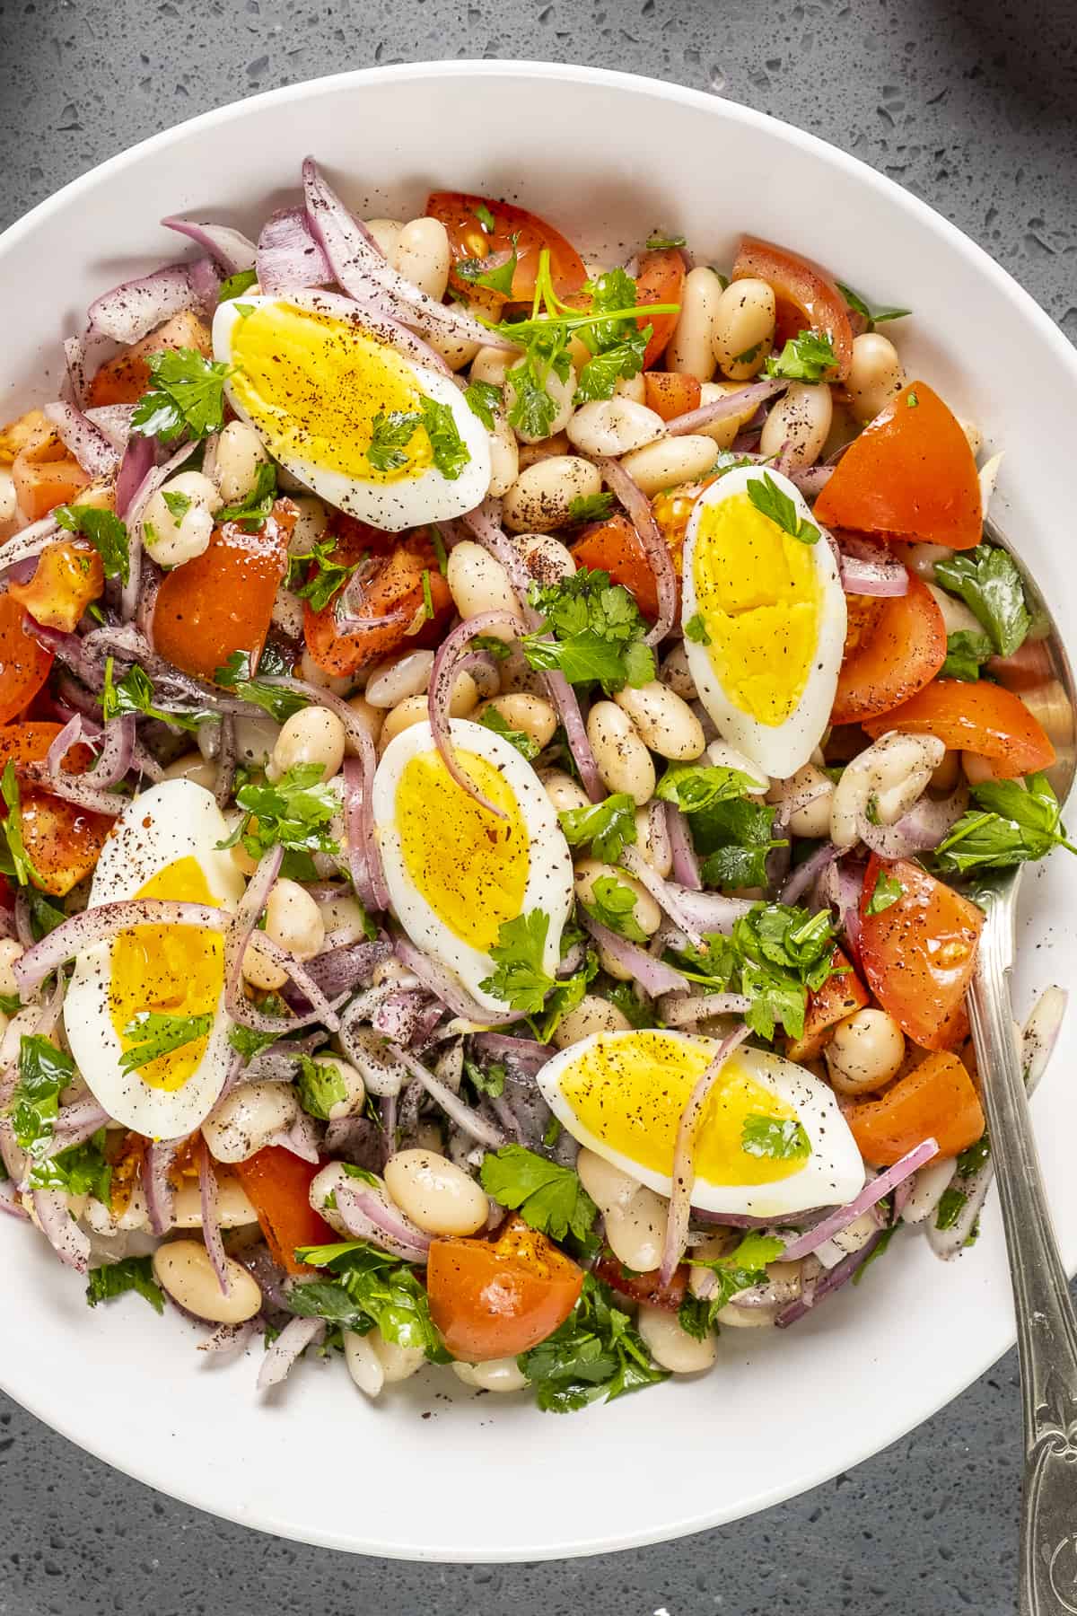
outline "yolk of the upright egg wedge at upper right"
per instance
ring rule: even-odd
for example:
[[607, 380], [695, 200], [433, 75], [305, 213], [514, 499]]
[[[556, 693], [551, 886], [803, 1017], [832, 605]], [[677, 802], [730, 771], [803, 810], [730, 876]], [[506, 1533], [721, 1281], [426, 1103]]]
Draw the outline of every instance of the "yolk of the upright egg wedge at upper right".
[[728, 701], [783, 724], [804, 693], [822, 588], [811, 545], [783, 533], [746, 493], [699, 512], [693, 582], [707, 653]]

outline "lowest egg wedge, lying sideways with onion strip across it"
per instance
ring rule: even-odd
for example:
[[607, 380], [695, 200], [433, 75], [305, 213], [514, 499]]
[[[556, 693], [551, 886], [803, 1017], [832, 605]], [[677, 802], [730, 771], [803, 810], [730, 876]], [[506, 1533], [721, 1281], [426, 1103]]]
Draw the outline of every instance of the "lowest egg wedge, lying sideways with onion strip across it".
[[[554, 1055], [538, 1083], [580, 1144], [670, 1196], [677, 1128], [717, 1050], [689, 1033], [594, 1033]], [[704, 1212], [783, 1218], [864, 1188], [861, 1152], [827, 1084], [743, 1046], [710, 1091], [693, 1160], [691, 1204]]]

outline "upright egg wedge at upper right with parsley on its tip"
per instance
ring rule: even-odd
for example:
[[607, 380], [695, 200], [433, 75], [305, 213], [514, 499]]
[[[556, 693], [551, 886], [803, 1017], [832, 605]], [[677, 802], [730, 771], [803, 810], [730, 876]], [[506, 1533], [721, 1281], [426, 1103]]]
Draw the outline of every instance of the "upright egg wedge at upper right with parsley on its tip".
[[[799, 524], [812, 543], [788, 532]], [[699, 700], [723, 739], [788, 779], [830, 721], [846, 630], [833, 551], [788, 477], [738, 467], [699, 496], [685, 533], [683, 624]]]

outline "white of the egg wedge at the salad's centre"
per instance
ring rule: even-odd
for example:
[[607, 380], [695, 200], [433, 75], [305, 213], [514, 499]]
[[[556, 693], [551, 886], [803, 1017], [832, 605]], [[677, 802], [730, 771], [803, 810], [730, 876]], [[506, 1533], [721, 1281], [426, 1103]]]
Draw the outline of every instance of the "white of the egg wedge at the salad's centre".
[[[468, 719], [452, 719], [449, 730], [455, 747], [478, 753], [480, 758], [492, 763], [515, 793], [530, 844], [528, 879], [520, 913], [541, 908], [549, 915], [543, 966], [549, 976], [554, 976], [560, 963], [560, 934], [573, 902], [572, 853], [557, 813], [538, 774], [512, 742], [486, 729], [484, 724], [471, 724]], [[375, 824], [392, 911], [415, 947], [441, 960], [483, 1008], [504, 1012], [504, 1000], [494, 999], [480, 987], [480, 983], [494, 971], [489, 953], [483, 953], [457, 937], [418, 892], [404, 865], [397, 831], [397, 787], [410, 760], [433, 750], [434, 740], [430, 724], [412, 724], [389, 742], [375, 774]], [[450, 850], [452, 824], [446, 824], [444, 835], [446, 848]]]

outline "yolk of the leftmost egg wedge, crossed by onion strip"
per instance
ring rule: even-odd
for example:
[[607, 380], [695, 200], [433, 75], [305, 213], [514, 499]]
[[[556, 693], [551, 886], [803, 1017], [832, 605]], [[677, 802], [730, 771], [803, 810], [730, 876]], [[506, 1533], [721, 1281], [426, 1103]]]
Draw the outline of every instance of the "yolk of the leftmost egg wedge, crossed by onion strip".
[[[176, 898], [186, 903], [215, 903], [197, 858], [178, 858], [158, 869], [136, 898]], [[163, 1015], [205, 1015], [215, 1012], [224, 986], [224, 944], [218, 932], [199, 926], [132, 926], [111, 945], [108, 1013], [124, 1050], [132, 1039], [124, 1028], [144, 1010]], [[181, 1089], [205, 1054], [208, 1034], [181, 1044], [137, 1068], [152, 1089]]]

